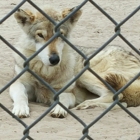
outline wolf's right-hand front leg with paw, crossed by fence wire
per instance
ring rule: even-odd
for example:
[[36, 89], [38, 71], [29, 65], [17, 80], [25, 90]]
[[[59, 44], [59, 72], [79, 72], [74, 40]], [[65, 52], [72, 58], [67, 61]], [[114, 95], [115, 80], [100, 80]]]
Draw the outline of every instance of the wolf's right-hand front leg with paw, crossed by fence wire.
[[[66, 108], [72, 108], [75, 106], [75, 96], [73, 93], [61, 93], [59, 95], [59, 102], [62, 103]], [[65, 118], [67, 111], [57, 104], [50, 112], [50, 115], [54, 118]]]

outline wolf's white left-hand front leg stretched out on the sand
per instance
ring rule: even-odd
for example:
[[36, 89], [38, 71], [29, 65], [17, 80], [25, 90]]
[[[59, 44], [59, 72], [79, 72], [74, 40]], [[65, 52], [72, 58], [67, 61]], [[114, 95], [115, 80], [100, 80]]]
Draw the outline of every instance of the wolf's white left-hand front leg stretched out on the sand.
[[10, 86], [10, 96], [14, 102], [12, 113], [19, 118], [30, 116], [27, 91], [20, 81], [16, 81]]

